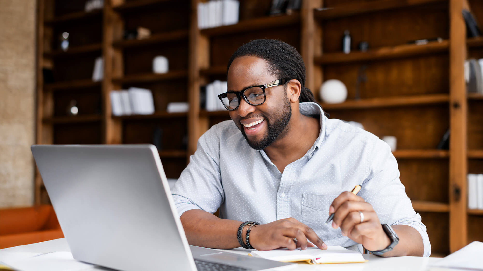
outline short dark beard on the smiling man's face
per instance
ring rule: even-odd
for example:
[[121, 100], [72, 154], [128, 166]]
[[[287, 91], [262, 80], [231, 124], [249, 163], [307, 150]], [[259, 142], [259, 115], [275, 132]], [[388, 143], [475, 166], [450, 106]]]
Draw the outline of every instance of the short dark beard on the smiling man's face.
[[265, 122], [267, 122], [267, 134], [260, 140], [249, 140], [248, 137], [245, 134], [245, 130], [243, 129], [243, 126], [241, 127], [241, 134], [245, 136], [246, 141], [248, 142], [248, 145], [252, 147], [253, 149], [265, 149], [270, 144], [275, 141], [275, 139], [280, 136], [282, 132], [284, 132], [285, 128], [288, 125], [288, 122], [290, 121], [290, 118], [292, 117], [292, 107], [290, 107], [290, 102], [288, 100], [288, 97], [285, 96], [285, 101], [284, 101], [284, 107], [282, 110], [280, 110], [279, 117], [271, 123], [267, 118], [265, 119]]

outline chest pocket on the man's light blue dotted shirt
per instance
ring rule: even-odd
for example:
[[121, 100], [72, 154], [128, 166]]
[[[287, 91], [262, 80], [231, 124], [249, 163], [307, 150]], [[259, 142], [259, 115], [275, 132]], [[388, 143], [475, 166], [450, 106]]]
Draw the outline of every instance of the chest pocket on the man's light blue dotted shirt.
[[324, 242], [342, 237], [341, 229], [333, 229], [332, 222], [327, 223], [327, 225], [324, 224], [329, 217], [330, 204], [338, 196], [302, 194], [302, 215], [300, 220], [305, 225], [311, 227]]

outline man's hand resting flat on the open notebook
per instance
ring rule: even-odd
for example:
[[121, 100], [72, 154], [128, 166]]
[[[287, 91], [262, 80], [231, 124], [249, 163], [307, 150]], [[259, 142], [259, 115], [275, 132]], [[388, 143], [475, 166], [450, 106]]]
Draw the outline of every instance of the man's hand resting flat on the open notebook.
[[[246, 227], [243, 229], [245, 236]], [[257, 250], [271, 250], [286, 247], [294, 250], [296, 247], [306, 249], [313, 244], [320, 249], [327, 249], [327, 245], [309, 226], [290, 217], [276, 220], [267, 224], [256, 225], [250, 231], [250, 244]], [[294, 242], [297, 238], [297, 244]], [[307, 242], [310, 240], [313, 244]]]

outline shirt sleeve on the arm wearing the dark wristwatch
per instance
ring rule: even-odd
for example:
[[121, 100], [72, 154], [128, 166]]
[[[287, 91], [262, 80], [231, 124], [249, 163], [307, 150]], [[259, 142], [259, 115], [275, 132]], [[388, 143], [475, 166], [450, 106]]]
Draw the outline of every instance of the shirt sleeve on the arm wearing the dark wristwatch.
[[369, 174], [362, 184], [362, 197], [372, 205], [381, 223], [408, 225], [416, 229], [423, 239], [423, 256], [429, 257], [431, 244], [426, 226], [421, 221], [421, 216], [412, 208], [406, 189], [399, 180], [398, 163], [389, 145], [376, 139], [368, 158]]

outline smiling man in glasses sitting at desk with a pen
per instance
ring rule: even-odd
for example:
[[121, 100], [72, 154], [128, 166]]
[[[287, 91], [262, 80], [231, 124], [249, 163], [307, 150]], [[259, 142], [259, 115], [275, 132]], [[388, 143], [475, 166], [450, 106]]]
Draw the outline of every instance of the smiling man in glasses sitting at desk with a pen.
[[[219, 98], [232, 121], [199, 138], [172, 191], [189, 244], [363, 246], [381, 256], [429, 256], [426, 227], [389, 146], [324, 115], [304, 87], [295, 48], [251, 41], [232, 55], [227, 75], [228, 92]], [[356, 185], [357, 195], [348, 192]]]

